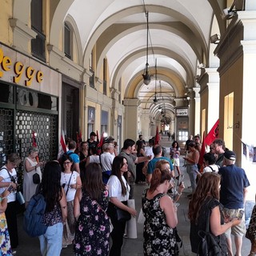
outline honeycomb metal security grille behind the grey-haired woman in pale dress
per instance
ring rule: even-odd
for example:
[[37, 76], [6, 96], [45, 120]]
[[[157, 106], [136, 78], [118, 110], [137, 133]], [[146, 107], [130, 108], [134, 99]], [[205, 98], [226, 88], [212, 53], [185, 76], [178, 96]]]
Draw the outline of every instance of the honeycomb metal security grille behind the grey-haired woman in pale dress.
[[15, 116], [15, 138], [18, 148], [16, 151], [22, 157], [22, 161], [27, 156], [28, 148], [32, 146], [33, 131], [37, 134], [35, 138], [40, 160], [49, 161], [56, 158], [58, 152], [58, 116], [17, 111]]

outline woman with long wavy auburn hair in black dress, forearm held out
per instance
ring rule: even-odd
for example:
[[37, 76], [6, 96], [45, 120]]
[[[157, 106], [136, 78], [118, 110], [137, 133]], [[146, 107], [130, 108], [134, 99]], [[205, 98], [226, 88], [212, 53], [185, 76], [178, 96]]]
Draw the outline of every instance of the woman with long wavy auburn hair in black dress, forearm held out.
[[238, 225], [241, 220], [234, 218], [226, 220], [222, 213], [223, 206], [219, 200], [221, 177], [214, 172], [202, 174], [198, 181], [198, 186], [192, 195], [189, 204], [190, 218], [190, 244], [192, 252], [204, 256], [202, 251], [198, 250], [198, 245], [202, 241], [199, 237], [199, 230], [206, 230], [206, 220], [210, 212], [210, 232], [214, 234], [214, 238], [222, 246], [222, 255], [227, 254], [225, 232], [231, 226]]

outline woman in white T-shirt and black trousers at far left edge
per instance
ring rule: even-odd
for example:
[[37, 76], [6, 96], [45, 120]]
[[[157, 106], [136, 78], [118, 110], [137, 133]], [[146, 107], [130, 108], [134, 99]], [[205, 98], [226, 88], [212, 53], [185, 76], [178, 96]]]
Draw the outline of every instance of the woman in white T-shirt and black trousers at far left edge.
[[18, 227], [17, 227], [17, 202], [16, 202], [16, 189], [17, 189], [17, 172], [15, 168], [20, 164], [21, 158], [17, 153], [11, 153], [7, 157], [5, 166], [0, 170], [0, 194], [9, 186], [13, 188], [7, 197], [6, 220], [10, 234], [10, 246], [13, 254], [18, 246]]

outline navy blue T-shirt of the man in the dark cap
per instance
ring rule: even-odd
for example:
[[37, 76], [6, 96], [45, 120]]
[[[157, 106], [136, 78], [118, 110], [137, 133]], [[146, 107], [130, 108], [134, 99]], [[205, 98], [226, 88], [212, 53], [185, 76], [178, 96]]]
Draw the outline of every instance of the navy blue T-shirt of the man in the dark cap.
[[250, 186], [245, 170], [235, 165], [223, 166], [218, 174], [222, 176], [219, 200], [222, 205], [228, 209], [244, 208], [243, 190]]

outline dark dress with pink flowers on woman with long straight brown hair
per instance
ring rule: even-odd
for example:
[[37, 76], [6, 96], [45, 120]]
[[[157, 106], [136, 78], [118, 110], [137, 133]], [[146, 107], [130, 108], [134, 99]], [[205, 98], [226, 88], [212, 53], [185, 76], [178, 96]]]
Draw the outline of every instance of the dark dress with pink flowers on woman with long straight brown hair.
[[108, 191], [102, 191], [97, 202], [82, 191], [80, 213], [74, 236], [74, 252], [76, 256], [109, 254], [110, 220], [105, 213], [108, 206]]

